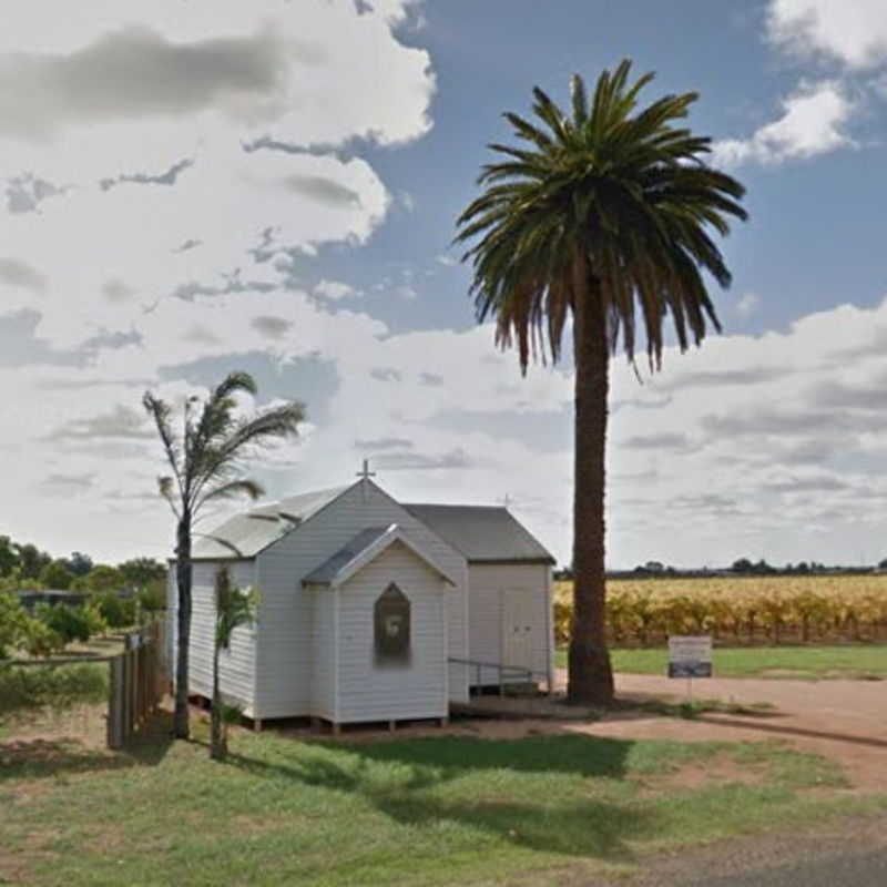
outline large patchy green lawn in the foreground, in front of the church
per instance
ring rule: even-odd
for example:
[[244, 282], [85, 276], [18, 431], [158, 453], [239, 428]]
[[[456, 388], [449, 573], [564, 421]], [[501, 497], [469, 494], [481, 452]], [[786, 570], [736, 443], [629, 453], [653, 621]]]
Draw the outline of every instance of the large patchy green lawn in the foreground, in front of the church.
[[[232, 751], [217, 764], [201, 743], [162, 738], [129, 754], [0, 742], [0, 883], [554, 884], [680, 845], [887, 809], [879, 796], [829, 796], [823, 787], [843, 785], [836, 766], [775, 743], [334, 744], [237, 731]], [[681, 787], [683, 768], [706, 766], [717, 781]]]

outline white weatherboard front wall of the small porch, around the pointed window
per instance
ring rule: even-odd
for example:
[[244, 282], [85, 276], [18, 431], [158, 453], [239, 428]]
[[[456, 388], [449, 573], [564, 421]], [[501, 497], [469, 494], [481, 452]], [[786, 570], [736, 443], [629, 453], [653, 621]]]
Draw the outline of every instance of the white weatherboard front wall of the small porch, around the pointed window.
[[[402, 664], [379, 665], [374, 606], [391, 582], [409, 599], [410, 656]], [[448, 588], [406, 546], [395, 542], [335, 592], [339, 723], [447, 716]]]

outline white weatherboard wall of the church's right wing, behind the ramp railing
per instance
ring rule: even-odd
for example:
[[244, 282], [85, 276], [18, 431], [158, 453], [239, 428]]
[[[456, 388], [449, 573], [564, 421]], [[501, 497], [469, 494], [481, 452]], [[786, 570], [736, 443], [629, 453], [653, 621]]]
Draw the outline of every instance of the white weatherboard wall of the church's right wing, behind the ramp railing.
[[[551, 675], [553, 666], [553, 625], [551, 613], [551, 568], [548, 564], [469, 564], [469, 659], [502, 665], [530, 667], [534, 680]], [[522, 612], [532, 628], [531, 654], [526, 662], [510, 662], [504, 649], [506, 624], [513, 603], [507, 595], [518, 597]], [[477, 669], [469, 675], [471, 685], [478, 683]], [[480, 684], [498, 684], [497, 669], [481, 669]], [[526, 679], [512, 675], [506, 682]]]

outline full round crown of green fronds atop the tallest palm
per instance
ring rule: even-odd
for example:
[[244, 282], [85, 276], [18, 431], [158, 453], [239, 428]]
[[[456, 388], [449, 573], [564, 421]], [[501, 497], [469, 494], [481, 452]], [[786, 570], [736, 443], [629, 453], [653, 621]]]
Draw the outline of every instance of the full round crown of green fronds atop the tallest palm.
[[[745, 220], [743, 186], [704, 162], [711, 140], [679, 125], [694, 92], [664, 95], [638, 109], [653, 74], [630, 82], [631, 63], [604, 71], [589, 100], [571, 80], [570, 113], [533, 90], [533, 121], [504, 116], [523, 144], [491, 144], [483, 188], [459, 216], [479, 320], [493, 317], [497, 341], [531, 358], [558, 360], [569, 309], [589, 293], [605, 302], [611, 349], [634, 359], [638, 333], [659, 367], [671, 316], [683, 350], [708, 327], [720, 329], [704, 275], [730, 285], [708, 234]], [[577, 288], [575, 257], [585, 267]]]

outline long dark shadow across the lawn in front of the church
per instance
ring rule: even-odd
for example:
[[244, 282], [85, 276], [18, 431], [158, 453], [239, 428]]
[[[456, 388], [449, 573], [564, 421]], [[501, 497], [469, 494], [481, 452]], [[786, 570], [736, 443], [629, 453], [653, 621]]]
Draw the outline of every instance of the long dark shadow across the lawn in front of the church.
[[[524, 801], [513, 796], [513, 781], [511, 787], [500, 787], [496, 774], [621, 779], [633, 745], [583, 736], [440, 737], [374, 746], [314, 743], [297, 756], [274, 754], [257, 759], [232, 753], [228, 763], [263, 778], [353, 793], [408, 826], [450, 823], [537, 852], [629, 861], [633, 852], [626, 842], [655, 834], [655, 813], [600, 797], [560, 799], [553, 791]], [[467, 782], [463, 792], [445, 787], [472, 776], [479, 778]]]

